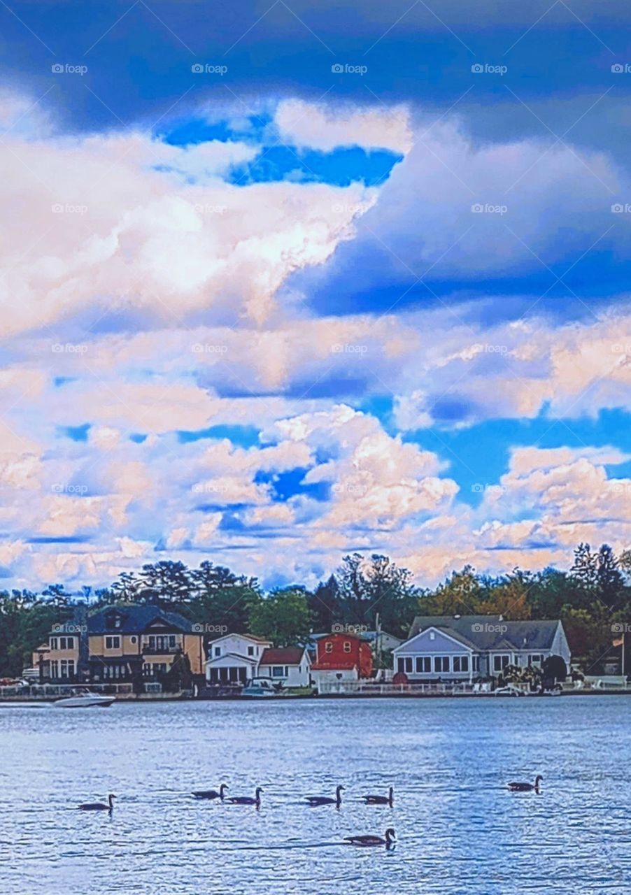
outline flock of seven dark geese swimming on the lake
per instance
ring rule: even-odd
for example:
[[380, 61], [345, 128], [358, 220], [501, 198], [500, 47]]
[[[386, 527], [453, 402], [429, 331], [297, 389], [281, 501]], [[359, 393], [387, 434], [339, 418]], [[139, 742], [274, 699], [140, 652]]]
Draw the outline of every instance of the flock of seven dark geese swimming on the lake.
[[[507, 788], [511, 792], [536, 792], [539, 793], [541, 789], [541, 774], [538, 774], [534, 780], [534, 783], [521, 783], [521, 782], [512, 782], [507, 784]], [[196, 789], [191, 795], [193, 798], [205, 798], [209, 800], [219, 799], [219, 801], [226, 803], [227, 805], [254, 805], [257, 808], [260, 808], [260, 794], [263, 789], [261, 787], [257, 787], [253, 796], [230, 796], [226, 797], [226, 790], [229, 787], [226, 783], [222, 783], [218, 789]], [[342, 804], [342, 793], [344, 792], [345, 787], [338, 786], [336, 788], [335, 797], [332, 796], [306, 796], [305, 802], [307, 805], [310, 805], [311, 808], [318, 808], [321, 805], [336, 805], [337, 808]], [[114, 799], [116, 796], [113, 793], [110, 793], [107, 797], [107, 802], [86, 802], [83, 805], [78, 805], [80, 811], [107, 811], [109, 814], [112, 813], [114, 808]], [[364, 805], [388, 805], [390, 808], [394, 803], [394, 789], [390, 787], [388, 789], [388, 796], [379, 796], [379, 795], [367, 795], [361, 797]], [[366, 836], [345, 836], [344, 841], [348, 842], [350, 845], [359, 846], [359, 847], [370, 847], [370, 846], [379, 846], [385, 845], [386, 848], [393, 848], [395, 840], [397, 836], [392, 827], [388, 827], [388, 830], [384, 833], [383, 836], [374, 836], [374, 835], [366, 835]]]

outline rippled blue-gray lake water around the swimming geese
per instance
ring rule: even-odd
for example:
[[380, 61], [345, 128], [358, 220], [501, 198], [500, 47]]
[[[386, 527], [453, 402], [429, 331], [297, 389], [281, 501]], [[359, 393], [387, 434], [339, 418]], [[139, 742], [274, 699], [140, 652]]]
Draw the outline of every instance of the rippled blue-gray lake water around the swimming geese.
[[[618, 893], [631, 885], [631, 700], [0, 706], [11, 895]], [[508, 780], [544, 777], [541, 795]], [[260, 811], [195, 801], [225, 781]], [[345, 785], [345, 802], [305, 795]], [[362, 793], [395, 788], [392, 808]], [[75, 810], [118, 797], [114, 813]], [[344, 837], [397, 831], [397, 847]]]

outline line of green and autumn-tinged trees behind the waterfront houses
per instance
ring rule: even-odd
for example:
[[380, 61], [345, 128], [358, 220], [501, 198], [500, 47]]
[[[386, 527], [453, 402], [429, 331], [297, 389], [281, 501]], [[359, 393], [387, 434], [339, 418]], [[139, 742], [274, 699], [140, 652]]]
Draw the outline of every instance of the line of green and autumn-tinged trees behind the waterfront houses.
[[[277, 646], [304, 643], [334, 625], [405, 638], [415, 615], [495, 615], [505, 619], [561, 618], [574, 656], [585, 669], [610, 647], [612, 631], [631, 621], [631, 551], [615, 556], [603, 544], [579, 544], [569, 571], [516, 568], [507, 575], [479, 575], [465, 566], [435, 588], [414, 584], [411, 572], [386, 556], [352, 553], [327, 581], [309, 590], [291, 584], [264, 592], [256, 578], [237, 575], [209, 560], [189, 568], [161, 560], [122, 572], [108, 588], [66, 592], [50, 584], [41, 593], [0, 592], [0, 678], [30, 665], [30, 654], [72, 609], [151, 603], [175, 609], [202, 630], [250, 633]], [[217, 636], [217, 635], [215, 635]], [[212, 639], [209, 635], [208, 639]]]

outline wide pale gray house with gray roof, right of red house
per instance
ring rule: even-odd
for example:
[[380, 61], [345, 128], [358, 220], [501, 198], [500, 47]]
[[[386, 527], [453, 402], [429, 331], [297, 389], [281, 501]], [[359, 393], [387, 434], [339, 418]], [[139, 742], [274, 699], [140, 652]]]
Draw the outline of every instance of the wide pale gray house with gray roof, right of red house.
[[569, 668], [563, 624], [504, 621], [501, 616], [417, 616], [410, 637], [394, 650], [395, 670], [410, 680], [498, 677], [507, 665], [527, 667], [557, 655]]

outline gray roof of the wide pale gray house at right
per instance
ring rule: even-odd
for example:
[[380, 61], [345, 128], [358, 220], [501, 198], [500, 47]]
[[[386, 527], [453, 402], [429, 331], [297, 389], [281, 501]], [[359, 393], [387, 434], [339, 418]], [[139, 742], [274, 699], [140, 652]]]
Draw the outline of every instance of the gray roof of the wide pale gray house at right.
[[499, 616], [416, 616], [410, 639], [429, 627], [455, 637], [475, 650], [548, 650], [558, 619], [504, 621]]

